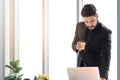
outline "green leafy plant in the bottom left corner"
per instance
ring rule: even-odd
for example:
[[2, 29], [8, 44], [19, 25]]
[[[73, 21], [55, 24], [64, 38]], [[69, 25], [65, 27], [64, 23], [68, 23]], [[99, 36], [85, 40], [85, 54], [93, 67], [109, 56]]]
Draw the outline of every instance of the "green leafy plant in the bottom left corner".
[[23, 74], [20, 74], [22, 67], [19, 66], [19, 62], [19, 60], [12, 60], [9, 65], [5, 65], [6, 68], [10, 69], [10, 73], [5, 77], [5, 80], [22, 80]]

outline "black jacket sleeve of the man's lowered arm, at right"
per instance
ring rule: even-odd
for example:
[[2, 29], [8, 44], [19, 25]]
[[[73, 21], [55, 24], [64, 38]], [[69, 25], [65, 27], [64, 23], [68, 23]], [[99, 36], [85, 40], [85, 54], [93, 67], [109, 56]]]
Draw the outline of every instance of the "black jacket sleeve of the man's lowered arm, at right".
[[103, 35], [101, 50], [100, 77], [107, 78], [111, 59], [111, 31], [107, 30]]

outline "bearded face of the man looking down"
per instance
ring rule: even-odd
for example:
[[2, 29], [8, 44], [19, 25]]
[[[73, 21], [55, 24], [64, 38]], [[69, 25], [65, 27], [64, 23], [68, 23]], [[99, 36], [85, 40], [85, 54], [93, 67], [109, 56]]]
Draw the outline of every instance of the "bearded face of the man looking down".
[[86, 26], [90, 30], [93, 30], [95, 28], [95, 26], [97, 25], [98, 15], [96, 14], [95, 16], [83, 17], [83, 19], [84, 19]]

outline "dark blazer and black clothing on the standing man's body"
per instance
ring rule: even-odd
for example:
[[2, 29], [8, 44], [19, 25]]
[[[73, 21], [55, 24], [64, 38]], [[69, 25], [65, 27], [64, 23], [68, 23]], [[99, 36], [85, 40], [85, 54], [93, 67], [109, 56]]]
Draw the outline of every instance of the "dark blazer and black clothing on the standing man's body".
[[85, 50], [79, 52], [77, 66], [99, 67], [100, 77], [108, 77], [110, 58], [111, 58], [111, 30], [98, 22], [95, 29], [90, 31], [84, 22], [77, 24], [72, 48], [75, 52], [76, 43], [85, 40]]

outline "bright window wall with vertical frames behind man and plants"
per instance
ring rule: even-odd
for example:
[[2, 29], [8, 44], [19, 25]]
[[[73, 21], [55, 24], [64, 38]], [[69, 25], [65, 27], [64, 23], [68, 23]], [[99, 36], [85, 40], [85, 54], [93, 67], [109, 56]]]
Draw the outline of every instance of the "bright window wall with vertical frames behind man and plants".
[[117, 0], [0, 0], [0, 80], [9, 73], [4, 65], [16, 59], [23, 78], [45, 73], [68, 80], [67, 67], [76, 67], [77, 57], [71, 44], [86, 3], [112, 30], [109, 80], [117, 80]]

